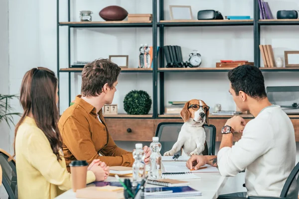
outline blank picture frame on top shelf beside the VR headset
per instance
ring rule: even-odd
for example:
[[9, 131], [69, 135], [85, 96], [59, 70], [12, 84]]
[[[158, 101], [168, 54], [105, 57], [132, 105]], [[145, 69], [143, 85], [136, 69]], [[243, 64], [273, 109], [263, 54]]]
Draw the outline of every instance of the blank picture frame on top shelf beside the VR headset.
[[190, 5], [169, 5], [171, 20], [192, 20]]

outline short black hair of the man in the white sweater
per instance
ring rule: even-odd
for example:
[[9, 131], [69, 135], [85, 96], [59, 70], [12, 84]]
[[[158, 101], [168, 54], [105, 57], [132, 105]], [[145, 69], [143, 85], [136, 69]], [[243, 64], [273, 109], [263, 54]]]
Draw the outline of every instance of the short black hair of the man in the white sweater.
[[251, 65], [238, 66], [228, 72], [228, 79], [236, 95], [243, 91], [254, 99], [267, 97], [264, 76], [258, 67]]

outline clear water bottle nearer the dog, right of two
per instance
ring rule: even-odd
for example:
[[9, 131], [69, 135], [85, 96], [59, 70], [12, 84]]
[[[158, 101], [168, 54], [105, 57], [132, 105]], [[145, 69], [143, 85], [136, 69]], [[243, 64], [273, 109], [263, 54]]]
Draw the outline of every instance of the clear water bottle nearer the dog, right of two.
[[149, 147], [151, 149], [151, 155], [149, 157], [149, 161], [150, 161], [149, 179], [159, 180], [162, 177], [162, 171], [161, 171], [162, 156], [160, 154], [161, 143], [159, 142], [159, 138], [153, 137]]

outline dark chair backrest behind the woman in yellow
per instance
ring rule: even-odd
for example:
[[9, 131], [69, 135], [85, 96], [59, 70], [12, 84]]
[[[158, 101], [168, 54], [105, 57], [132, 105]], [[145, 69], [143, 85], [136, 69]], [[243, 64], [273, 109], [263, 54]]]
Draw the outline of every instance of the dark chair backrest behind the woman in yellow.
[[15, 160], [8, 161], [10, 155], [0, 149], [0, 165], [2, 168], [2, 184], [5, 188], [9, 199], [17, 198], [17, 181], [16, 181], [16, 167]]

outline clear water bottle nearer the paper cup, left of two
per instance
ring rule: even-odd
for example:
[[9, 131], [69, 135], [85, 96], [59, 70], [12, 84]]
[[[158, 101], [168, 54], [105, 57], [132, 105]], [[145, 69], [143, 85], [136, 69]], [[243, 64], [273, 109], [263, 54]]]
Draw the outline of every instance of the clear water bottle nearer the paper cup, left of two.
[[133, 187], [137, 187], [139, 183], [146, 177], [145, 152], [142, 149], [142, 144], [135, 145], [136, 150], [133, 152], [135, 159], [133, 163]]

